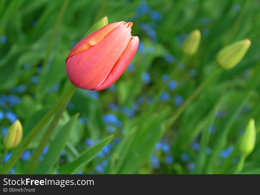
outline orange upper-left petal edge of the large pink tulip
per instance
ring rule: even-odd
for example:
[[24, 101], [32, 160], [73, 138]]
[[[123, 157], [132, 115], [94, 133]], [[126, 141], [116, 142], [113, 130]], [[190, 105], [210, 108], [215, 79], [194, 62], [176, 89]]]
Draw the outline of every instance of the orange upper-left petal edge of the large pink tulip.
[[121, 21], [121, 22], [113, 22], [113, 23], [103, 26], [99, 30], [95, 31], [94, 33], [90, 34], [89, 36], [86, 36], [84, 39], [79, 41], [73, 47], [73, 49], [70, 51], [68, 57], [66, 58], [66, 62], [69, 57], [82, 53], [83, 51], [88, 50], [91, 46], [96, 45], [97, 43], [102, 41], [103, 38], [108, 35], [108, 33], [110, 33], [113, 29], [115, 29], [117, 26], [119, 26], [122, 23], [124, 25], [127, 24], [130, 27], [133, 25], [132, 22], [127, 23], [127, 22]]

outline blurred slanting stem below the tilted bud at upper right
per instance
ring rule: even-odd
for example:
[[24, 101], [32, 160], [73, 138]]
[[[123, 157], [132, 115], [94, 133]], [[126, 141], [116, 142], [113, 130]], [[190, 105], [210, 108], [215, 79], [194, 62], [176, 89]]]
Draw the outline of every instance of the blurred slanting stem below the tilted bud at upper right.
[[183, 111], [191, 104], [191, 102], [199, 95], [199, 93], [207, 86], [207, 84], [215, 78], [215, 76], [220, 72], [220, 67], [217, 67], [211, 75], [206, 78], [189, 96], [188, 99], [184, 101], [181, 107], [174, 113], [172, 117], [165, 120], [166, 129], [168, 129], [173, 123], [180, 117]]

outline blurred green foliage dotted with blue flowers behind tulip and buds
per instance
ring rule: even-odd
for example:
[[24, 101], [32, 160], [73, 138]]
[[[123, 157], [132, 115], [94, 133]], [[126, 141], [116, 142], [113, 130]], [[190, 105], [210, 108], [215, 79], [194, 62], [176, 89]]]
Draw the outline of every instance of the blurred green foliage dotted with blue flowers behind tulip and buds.
[[[12, 153], [3, 146], [6, 128], [18, 118], [27, 135], [69, 85], [69, 51], [105, 16], [109, 23], [134, 23], [137, 54], [110, 88], [75, 91], [35, 173], [259, 174], [258, 0], [1, 0], [0, 166]], [[194, 29], [202, 33], [201, 43], [186, 57], [182, 43]], [[167, 119], [215, 70], [217, 52], [244, 38], [251, 46], [243, 60], [219, 72], [168, 126]], [[238, 143], [251, 118], [256, 145], [241, 165]], [[28, 170], [47, 127], [9, 173]]]

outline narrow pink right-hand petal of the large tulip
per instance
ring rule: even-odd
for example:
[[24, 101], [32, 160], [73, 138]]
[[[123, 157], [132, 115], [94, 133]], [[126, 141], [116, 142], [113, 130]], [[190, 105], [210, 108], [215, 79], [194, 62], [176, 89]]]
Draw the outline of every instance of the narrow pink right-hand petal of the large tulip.
[[105, 88], [110, 87], [113, 83], [118, 80], [118, 78], [123, 74], [126, 70], [127, 66], [131, 62], [134, 57], [134, 54], [137, 51], [139, 44], [139, 38], [133, 37], [133, 39], [127, 45], [125, 51], [122, 53], [116, 64], [114, 65], [113, 69], [109, 73], [107, 79], [102, 83], [99, 87], [95, 88], [93, 91], [100, 91]]

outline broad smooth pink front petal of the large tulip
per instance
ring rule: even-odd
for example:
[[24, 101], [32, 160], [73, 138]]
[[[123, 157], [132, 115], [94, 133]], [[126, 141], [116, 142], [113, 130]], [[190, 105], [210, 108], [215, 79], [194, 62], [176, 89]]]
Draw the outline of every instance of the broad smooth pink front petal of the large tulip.
[[100, 86], [131, 38], [130, 25], [121, 23], [90, 49], [69, 57], [66, 72], [71, 83], [83, 89], [95, 89]]

